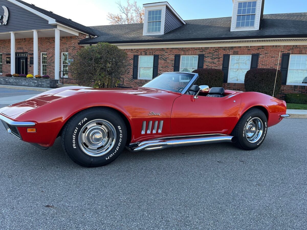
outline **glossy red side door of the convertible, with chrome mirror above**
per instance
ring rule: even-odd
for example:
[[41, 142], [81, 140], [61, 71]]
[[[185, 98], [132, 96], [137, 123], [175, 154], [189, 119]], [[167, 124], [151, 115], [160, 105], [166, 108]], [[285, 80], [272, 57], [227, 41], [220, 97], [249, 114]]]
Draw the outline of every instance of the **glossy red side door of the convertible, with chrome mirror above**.
[[171, 113], [172, 136], [228, 134], [231, 131], [240, 108], [240, 95], [193, 97], [183, 94], [175, 99]]

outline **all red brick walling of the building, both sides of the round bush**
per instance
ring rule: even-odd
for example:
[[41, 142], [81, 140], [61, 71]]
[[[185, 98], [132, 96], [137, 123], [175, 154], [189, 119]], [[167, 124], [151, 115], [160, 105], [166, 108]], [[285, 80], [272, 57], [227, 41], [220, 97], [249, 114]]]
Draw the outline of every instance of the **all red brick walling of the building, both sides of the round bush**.
[[[69, 59], [78, 52], [82, 47], [78, 45], [79, 40], [84, 39], [84, 34], [79, 34], [75, 37], [61, 37], [60, 38], [60, 52], [68, 52]], [[41, 52], [47, 52], [47, 74], [54, 78], [54, 37], [39, 38], [39, 56]], [[307, 54], [307, 45], [276, 45], [276, 46], [241, 46], [241, 47], [209, 47], [209, 48], [152, 48], [152, 49], [124, 49], [128, 54], [129, 66], [124, 77], [124, 86], [135, 87], [142, 86], [148, 80], [132, 79], [132, 66], [134, 55], [159, 55], [158, 74], [163, 72], [173, 71], [174, 55], [198, 55], [204, 54], [204, 68], [222, 68], [223, 54], [231, 55], [250, 55], [259, 53], [258, 67], [259, 68], [277, 68], [278, 55], [282, 53], [291, 54]], [[10, 40], [0, 40], [0, 52], [2, 52], [3, 60], [3, 76], [10, 73], [10, 64], [5, 63], [6, 53], [10, 53]], [[16, 39], [16, 52], [33, 53], [33, 39]], [[60, 54], [61, 55], [61, 54]], [[28, 55], [28, 73], [33, 73], [33, 65], [29, 64]], [[60, 58], [61, 61], [61, 58]], [[281, 59], [279, 61], [279, 68]], [[61, 68], [61, 66], [60, 66]], [[41, 63], [39, 58], [39, 73]], [[71, 75], [69, 74], [69, 77]], [[76, 84], [76, 81], [65, 79], [64, 83]], [[224, 83], [223, 87], [230, 90], [244, 91], [244, 84], [242, 83]], [[287, 93], [304, 93], [307, 94], [307, 86], [282, 86], [279, 98], [284, 98]]]

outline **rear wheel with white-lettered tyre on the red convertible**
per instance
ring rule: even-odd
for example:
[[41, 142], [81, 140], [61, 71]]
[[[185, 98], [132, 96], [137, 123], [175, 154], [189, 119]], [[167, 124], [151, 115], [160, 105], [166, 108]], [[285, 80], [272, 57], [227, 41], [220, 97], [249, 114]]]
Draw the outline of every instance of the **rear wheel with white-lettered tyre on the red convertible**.
[[235, 146], [244, 150], [258, 148], [267, 134], [266, 115], [256, 108], [249, 109], [238, 121], [231, 135], [237, 137]]

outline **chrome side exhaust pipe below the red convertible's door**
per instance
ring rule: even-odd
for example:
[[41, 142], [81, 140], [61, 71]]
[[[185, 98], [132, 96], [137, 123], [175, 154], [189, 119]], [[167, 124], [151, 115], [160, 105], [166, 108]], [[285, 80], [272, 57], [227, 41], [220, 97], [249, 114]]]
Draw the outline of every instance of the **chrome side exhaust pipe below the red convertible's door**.
[[235, 142], [236, 137], [234, 136], [207, 136], [207, 137], [196, 137], [196, 138], [184, 138], [184, 139], [173, 139], [173, 140], [148, 140], [142, 141], [135, 148], [130, 148], [131, 151], [152, 151], [160, 150], [164, 148], [199, 145], [199, 144], [213, 144], [221, 142]]

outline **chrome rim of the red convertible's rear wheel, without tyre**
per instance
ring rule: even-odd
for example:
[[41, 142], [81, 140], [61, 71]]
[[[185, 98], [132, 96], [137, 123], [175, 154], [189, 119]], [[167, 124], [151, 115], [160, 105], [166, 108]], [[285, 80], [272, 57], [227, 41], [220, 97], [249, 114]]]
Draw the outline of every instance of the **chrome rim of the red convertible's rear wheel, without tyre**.
[[245, 137], [246, 140], [250, 143], [257, 142], [263, 132], [263, 123], [260, 118], [254, 117], [249, 120], [246, 128], [245, 128]]

